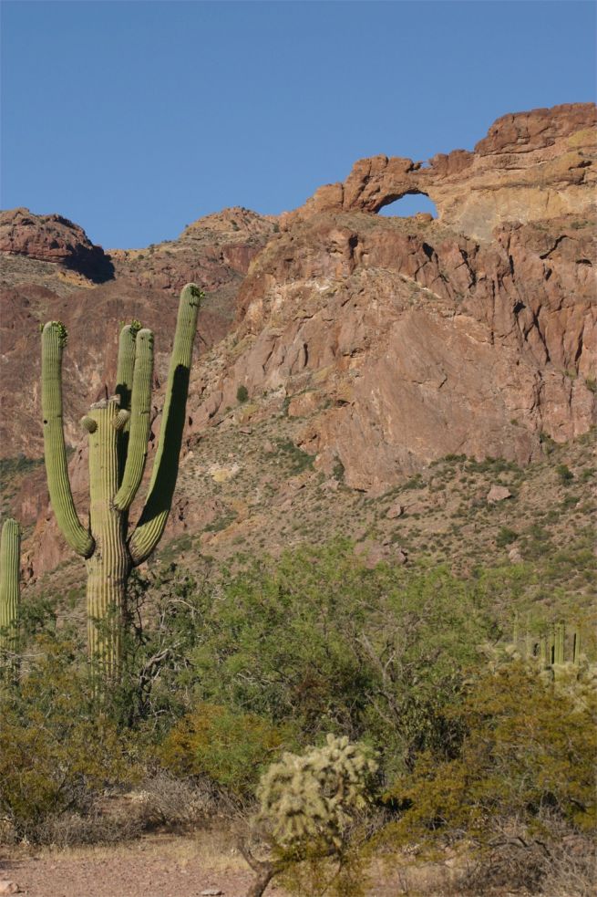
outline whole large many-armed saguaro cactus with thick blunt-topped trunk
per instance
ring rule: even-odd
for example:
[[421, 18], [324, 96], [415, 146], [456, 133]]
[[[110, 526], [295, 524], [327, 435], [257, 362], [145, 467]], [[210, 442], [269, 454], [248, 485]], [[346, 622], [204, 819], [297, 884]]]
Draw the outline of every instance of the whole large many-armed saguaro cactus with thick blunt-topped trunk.
[[180, 294], [160, 441], [145, 505], [130, 535], [129, 507], [147, 458], [153, 334], [138, 321], [121, 330], [115, 394], [92, 405], [81, 420], [89, 434], [86, 528], [77, 516], [68, 481], [62, 422], [62, 355], [67, 331], [60, 322], [49, 321], [42, 333], [42, 409], [50, 501], [68, 545], [87, 561], [89, 653], [107, 678], [118, 676], [122, 660], [122, 614], [130, 571], [156, 548], [170, 513], [202, 296], [195, 284], [188, 284]]

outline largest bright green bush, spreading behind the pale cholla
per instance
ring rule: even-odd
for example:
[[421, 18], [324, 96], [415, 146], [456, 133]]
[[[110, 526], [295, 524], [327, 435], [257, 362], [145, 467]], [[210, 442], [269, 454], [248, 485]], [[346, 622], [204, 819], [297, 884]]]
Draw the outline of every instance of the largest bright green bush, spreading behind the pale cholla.
[[369, 570], [346, 544], [256, 562], [205, 600], [194, 693], [293, 721], [303, 745], [366, 735], [396, 770], [457, 736], [442, 707], [488, 634], [478, 585], [445, 569]]

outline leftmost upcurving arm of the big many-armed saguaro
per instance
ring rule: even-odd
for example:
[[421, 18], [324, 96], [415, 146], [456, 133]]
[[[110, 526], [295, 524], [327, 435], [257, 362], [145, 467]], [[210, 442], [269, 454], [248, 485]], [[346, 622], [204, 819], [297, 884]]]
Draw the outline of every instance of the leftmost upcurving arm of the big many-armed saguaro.
[[67, 329], [59, 321], [48, 321], [42, 333], [42, 411], [47, 487], [58, 526], [68, 545], [89, 558], [95, 543], [81, 525], [68, 480], [67, 449], [62, 425], [62, 352]]

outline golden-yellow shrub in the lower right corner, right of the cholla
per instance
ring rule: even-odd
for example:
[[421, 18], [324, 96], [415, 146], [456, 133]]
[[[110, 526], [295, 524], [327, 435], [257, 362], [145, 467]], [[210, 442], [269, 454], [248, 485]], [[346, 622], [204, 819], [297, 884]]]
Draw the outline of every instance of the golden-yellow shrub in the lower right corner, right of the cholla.
[[[388, 797], [401, 818], [386, 829], [398, 844], [467, 840], [492, 887], [537, 888], [561, 845], [596, 828], [593, 761], [597, 702], [572, 702], [521, 662], [468, 686], [453, 713], [458, 755], [417, 757]], [[479, 887], [479, 881], [477, 882]]]

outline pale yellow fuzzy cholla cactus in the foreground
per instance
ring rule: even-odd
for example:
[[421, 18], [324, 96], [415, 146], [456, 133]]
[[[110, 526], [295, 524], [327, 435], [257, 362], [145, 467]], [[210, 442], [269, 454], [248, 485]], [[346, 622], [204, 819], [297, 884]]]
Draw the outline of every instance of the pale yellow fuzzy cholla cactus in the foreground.
[[296, 853], [318, 844], [340, 850], [345, 829], [367, 804], [376, 768], [365, 747], [327, 735], [323, 747], [284, 754], [264, 773], [258, 820], [279, 850]]

